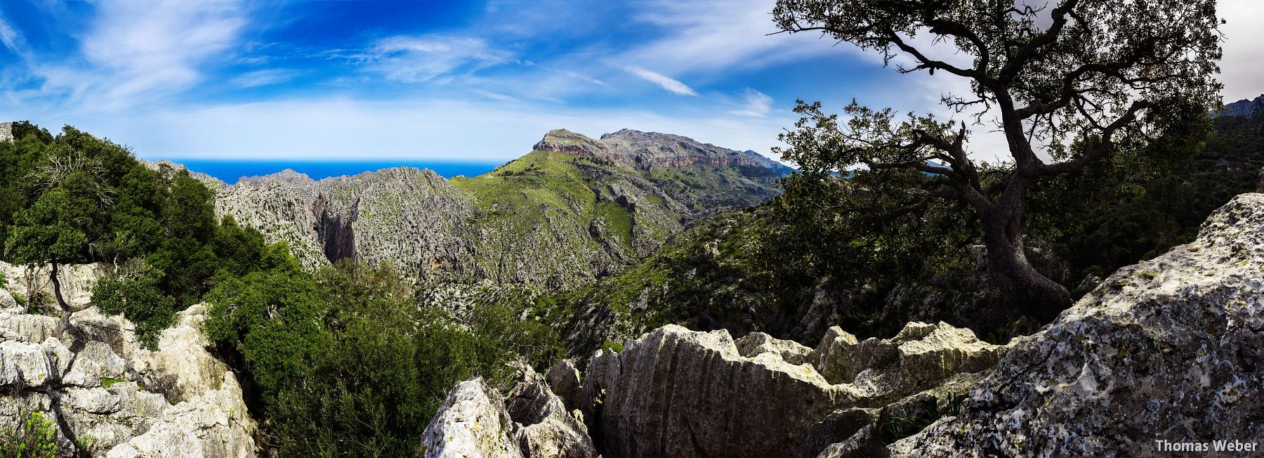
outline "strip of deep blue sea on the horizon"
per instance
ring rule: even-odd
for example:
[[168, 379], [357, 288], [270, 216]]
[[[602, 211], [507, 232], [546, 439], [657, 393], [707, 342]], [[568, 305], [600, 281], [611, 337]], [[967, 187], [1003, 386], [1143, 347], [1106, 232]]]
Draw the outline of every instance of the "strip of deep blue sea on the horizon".
[[269, 175], [293, 168], [313, 180], [374, 172], [391, 167], [430, 168], [445, 178], [458, 175], [468, 177], [490, 172], [498, 162], [450, 161], [224, 161], [224, 159], [173, 159], [195, 172], [202, 172], [231, 185], [240, 177]]

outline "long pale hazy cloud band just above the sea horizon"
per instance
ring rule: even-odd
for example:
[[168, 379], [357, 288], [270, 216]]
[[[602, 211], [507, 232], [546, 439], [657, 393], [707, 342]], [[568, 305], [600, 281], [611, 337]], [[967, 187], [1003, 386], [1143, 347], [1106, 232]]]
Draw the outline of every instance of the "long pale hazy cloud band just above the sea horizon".
[[[715, 111], [713, 111], [714, 114]], [[723, 114], [723, 111], [718, 111]], [[530, 152], [550, 129], [588, 135], [631, 128], [767, 153], [789, 120], [747, 123], [699, 113], [541, 108], [478, 99], [364, 101], [277, 100], [209, 108], [172, 106], [131, 116], [100, 113], [32, 119], [72, 124], [126, 140], [144, 158], [447, 158], [503, 161]], [[337, 128], [330, 129], [330, 125]], [[418, 129], [417, 127], [425, 127]], [[233, 135], [224, 135], [233, 132]]]

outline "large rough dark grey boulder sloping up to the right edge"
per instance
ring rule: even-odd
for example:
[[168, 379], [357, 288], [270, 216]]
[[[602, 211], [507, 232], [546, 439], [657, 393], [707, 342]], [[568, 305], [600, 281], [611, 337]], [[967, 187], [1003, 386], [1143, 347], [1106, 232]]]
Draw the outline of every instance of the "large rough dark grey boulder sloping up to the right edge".
[[[1264, 438], [1264, 195], [1111, 275], [895, 455], [1162, 455]], [[1194, 450], [1191, 448], [1189, 450]], [[1256, 450], [1258, 452], [1258, 450]]]

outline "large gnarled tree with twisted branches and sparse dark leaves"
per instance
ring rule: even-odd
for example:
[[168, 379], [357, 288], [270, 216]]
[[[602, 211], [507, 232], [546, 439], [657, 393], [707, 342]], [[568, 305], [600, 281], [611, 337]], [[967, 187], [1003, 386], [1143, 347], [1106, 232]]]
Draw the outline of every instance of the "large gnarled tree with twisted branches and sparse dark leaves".
[[1071, 296], [1026, 259], [1029, 189], [1139, 151], [1218, 105], [1220, 20], [1213, 0], [1033, 5], [779, 0], [774, 20], [787, 33], [822, 33], [881, 53], [900, 73], [968, 81], [968, 94], [944, 95], [942, 102], [969, 125], [1004, 133], [1009, 151], [999, 154], [1000, 164], [972, 157], [966, 121], [911, 114], [900, 121], [891, 110], [854, 102], [846, 109], [851, 118], [839, 121], [819, 104], [800, 101], [804, 118], [781, 135], [790, 145], [782, 154], [809, 173], [853, 170], [875, 201], [886, 204], [873, 218], [932, 206], [972, 213], [995, 286], [1011, 305], [1049, 320]]

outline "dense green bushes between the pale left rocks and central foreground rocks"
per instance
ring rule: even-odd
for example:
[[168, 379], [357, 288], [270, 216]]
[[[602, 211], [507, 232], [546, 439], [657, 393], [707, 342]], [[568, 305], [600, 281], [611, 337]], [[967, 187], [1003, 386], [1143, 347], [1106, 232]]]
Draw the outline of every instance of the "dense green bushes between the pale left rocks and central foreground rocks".
[[479, 304], [461, 326], [441, 310], [418, 309], [391, 268], [343, 263], [313, 276], [283, 245], [270, 249], [286, 262], [217, 280], [205, 330], [241, 354], [268, 419], [268, 445], [283, 457], [413, 450], [456, 382], [483, 376], [504, 387], [508, 362], [557, 357], [556, 334], [521, 320], [518, 302]]

